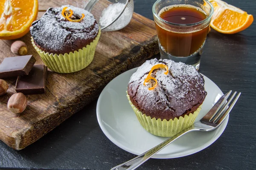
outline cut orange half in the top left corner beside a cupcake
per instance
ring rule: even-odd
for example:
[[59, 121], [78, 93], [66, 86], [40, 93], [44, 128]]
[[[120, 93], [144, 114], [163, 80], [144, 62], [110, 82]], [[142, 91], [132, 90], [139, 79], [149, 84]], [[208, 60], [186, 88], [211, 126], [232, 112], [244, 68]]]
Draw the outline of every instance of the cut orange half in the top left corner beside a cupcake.
[[0, 0], [0, 39], [24, 36], [37, 14], [38, 0]]

